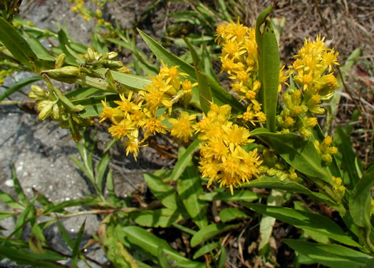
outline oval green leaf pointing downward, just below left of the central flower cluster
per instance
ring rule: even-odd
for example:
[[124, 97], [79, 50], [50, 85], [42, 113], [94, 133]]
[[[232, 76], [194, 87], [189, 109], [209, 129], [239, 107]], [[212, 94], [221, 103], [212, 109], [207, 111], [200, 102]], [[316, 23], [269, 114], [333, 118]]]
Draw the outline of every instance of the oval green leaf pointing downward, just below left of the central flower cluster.
[[192, 162], [190, 162], [190, 165], [185, 168], [182, 176], [178, 179], [177, 191], [193, 222], [199, 227], [199, 229], [207, 226], [207, 206], [204, 201], [199, 200], [199, 195], [202, 195], [203, 193], [202, 183], [199, 173], [197, 173]]

